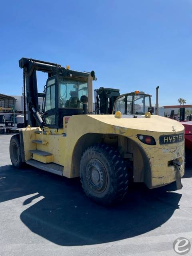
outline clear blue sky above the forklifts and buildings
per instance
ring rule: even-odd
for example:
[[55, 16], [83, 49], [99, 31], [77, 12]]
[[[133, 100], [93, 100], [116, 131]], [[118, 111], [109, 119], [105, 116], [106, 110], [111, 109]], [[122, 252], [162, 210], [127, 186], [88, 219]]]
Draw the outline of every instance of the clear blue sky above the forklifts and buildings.
[[[160, 105], [192, 104], [192, 0], [2, 1], [0, 93], [20, 95], [22, 57], [95, 70], [94, 88], [160, 86]], [[45, 84], [38, 74], [39, 92]]]

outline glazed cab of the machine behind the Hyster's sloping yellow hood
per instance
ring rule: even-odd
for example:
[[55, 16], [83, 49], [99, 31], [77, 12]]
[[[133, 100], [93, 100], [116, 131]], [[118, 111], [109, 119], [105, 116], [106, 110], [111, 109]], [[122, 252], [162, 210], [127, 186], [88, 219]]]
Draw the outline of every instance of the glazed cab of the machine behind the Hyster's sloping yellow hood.
[[152, 114], [154, 110], [151, 106], [151, 95], [139, 91], [122, 94], [116, 98], [113, 114], [116, 111], [126, 115], [144, 115], [148, 111]]

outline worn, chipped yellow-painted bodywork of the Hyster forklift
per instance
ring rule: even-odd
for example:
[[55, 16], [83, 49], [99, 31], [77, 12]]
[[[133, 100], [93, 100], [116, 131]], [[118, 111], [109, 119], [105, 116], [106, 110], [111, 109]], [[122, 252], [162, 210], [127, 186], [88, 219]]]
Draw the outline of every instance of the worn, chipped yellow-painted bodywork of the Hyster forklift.
[[[174, 126], [174, 131], [173, 131]], [[64, 117], [64, 129], [50, 129], [50, 134], [35, 134], [31, 128], [32, 137], [29, 138], [29, 131], [23, 129], [24, 149], [26, 160], [31, 158], [28, 150], [38, 149], [50, 152], [53, 155], [53, 162], [64, 166], [64, 176], [68, 178], [78, 176], [78, 170], [73, 166], [73, 154], [77, 142], [85, 134], [114, 134], [121, 135], [134, 141], [146, 154], [151, 173], [150, 188], [162, 186], [176, 180], [176, 170], [169, 162], [179, 159], [181, 176], [184, 174], [184, 141], [174, 144], [159, 144], [159, 137], [166, 134], [179, 134], [184, 131], [180, 122], [151, 115], [151, 118], [115, 118], [114, 115], [74, 115]], [[153, 136], [156, 145], [146, 145], [137, 138], [137, 134]], [[44, 140], [47, 144], [33, 144], [32, 140]], [[85, 141], [86, 142], [86, 141]], [[83, 144], [85, 142], [82, 142]], [[82, 144], [82, 146], [83, 146]], [[145, 166], [142, 168], [146, 168]], [[140, 170], [143, 172], [143, 170]], [[150, 170], [145, 170], [150, 172]], [[143, 177], [143, 175], [142, 175]], [[140, 181], [146, 182], [143, 178]]]

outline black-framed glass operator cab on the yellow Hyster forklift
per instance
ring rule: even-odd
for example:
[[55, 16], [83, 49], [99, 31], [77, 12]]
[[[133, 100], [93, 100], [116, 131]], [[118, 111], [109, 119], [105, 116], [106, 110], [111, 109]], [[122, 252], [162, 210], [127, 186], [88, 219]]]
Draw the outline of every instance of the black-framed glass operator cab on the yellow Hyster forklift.
[[88, 75], [69, 78], [52, 76], [46, 82], [44, 122], [48, 127], [63, 126], [63, 117], [84, 114], [82, 96], [88, 97]]

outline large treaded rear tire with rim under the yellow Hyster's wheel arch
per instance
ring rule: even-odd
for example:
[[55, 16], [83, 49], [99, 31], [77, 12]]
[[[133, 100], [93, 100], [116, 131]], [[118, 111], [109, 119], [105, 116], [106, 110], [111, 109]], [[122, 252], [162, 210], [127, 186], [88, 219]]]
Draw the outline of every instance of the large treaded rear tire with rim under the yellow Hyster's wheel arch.
[[129, 168], [119, 152], [106, 144], [87, 148], [80, 162], [80, 179], [85, 194], [103, 205], [114, 204], [128, 192]]

